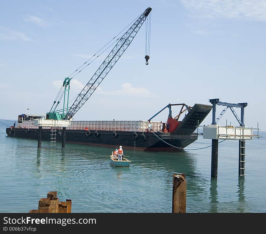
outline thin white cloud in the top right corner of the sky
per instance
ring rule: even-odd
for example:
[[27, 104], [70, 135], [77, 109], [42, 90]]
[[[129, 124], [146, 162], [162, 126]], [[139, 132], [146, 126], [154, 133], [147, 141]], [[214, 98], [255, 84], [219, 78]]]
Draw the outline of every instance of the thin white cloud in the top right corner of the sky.
[[251, 19], [266, 21], [265, 0], [181, 0], [190, 11], [204, 18]]

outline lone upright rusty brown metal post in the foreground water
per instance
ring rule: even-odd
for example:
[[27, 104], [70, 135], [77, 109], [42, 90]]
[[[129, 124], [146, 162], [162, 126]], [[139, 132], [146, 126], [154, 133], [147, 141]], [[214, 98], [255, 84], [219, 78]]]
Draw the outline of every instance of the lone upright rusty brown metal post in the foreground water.
[[173, 174], [172, 213], [186, 213], [187, 180], [185, 173]]

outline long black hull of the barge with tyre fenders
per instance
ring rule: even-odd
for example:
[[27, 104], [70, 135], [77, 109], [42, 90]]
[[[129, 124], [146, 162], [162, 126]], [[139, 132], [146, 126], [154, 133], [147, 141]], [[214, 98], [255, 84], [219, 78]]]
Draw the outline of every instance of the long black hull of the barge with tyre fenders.
[[[116, 131], [116, 137], [112, 135], [113, 131], [97, 131], [98, 134], [91, 130], [91, 134], [86, 134], [86, 130], [66, 129], [66, 143], [76, 143], [84, 145], [98, 145], [117, 148], [122, 145], [125, 149], [136, 150], [174, 150], [185, 148], [192, 142], [196, 141], [197, 134], [177, 135], [164, 132], [136, 132], [138, 137], [133, 138], [134, 132]], [[38, 139], [38, 129], [36, 128], [6, 128], [6, 134], [10, 137], [21, 137], [26, 139]], [[42, 140], [50, 141], [50, 129], [42, 129]], [[62, 142], [62, 129], [56, 132], [56, 144]], [[144, 135], [144, 137], [142, 136]], [[37, 142], [36, 142], [37, 144]], [[173, 147], [175, 146], [175, 147]]]

